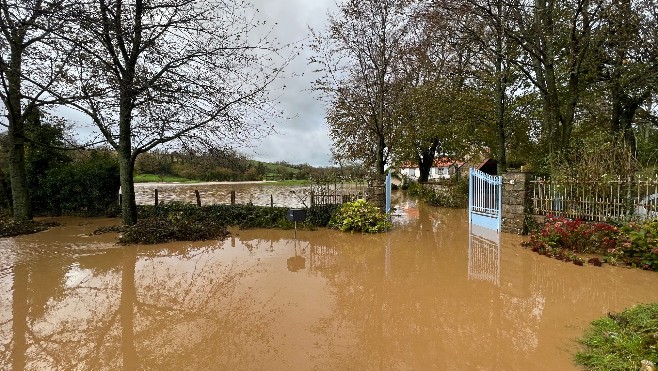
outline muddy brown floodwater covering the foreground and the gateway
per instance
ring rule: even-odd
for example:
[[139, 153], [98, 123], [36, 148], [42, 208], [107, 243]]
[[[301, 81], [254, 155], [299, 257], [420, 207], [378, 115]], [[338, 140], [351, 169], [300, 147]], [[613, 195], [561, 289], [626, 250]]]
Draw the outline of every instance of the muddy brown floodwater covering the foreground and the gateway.
[[658, 301], [658, 274], [578, 267], [464, 210], [398, 200], [396, 227], [234, 230], [158, 246], [0, 239], [0, 369], [568, 370], [593, 319]]

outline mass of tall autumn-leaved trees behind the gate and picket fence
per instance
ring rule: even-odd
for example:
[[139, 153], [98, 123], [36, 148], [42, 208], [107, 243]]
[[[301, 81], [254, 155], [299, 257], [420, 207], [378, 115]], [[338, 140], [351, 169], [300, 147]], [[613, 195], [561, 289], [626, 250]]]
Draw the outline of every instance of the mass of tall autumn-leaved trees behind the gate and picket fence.
[[654, 0], [340, 1], [310, 60], [334, 156], [655, 173], [657, 23]]

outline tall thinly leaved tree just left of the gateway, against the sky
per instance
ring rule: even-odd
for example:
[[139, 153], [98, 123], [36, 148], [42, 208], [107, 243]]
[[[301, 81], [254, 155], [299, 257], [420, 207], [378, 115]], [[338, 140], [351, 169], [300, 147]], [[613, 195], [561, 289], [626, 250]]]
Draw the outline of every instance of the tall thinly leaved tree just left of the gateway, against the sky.
[[[392, 152], [394, 81], [409, 28], [411, 1], [348, 0], [313, 34], [311, 63], [323, 76], [315, 88], [328, 100], [334, 154], [384, 173]], [[399, 86], [398, 86], [399, 87]]]

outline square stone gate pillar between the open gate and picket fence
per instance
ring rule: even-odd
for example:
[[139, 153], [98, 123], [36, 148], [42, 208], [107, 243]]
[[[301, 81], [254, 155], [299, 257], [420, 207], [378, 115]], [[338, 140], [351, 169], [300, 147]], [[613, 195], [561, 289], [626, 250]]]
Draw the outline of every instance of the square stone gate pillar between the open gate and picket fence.
[[527, 220], [532, 212], [530, 174], [503, 174], [503, 205], [501, 230], [506, 233], [528, 233]]

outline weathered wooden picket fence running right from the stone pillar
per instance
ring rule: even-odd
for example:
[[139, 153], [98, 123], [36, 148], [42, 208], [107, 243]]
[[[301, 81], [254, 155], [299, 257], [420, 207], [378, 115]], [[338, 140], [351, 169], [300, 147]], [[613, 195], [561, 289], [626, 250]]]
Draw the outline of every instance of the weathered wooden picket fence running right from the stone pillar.
[[658, 217], [658, 177], [605, 181], [537, 178], [531, 184], [532, 207], [537, 215], [590, 221]]

